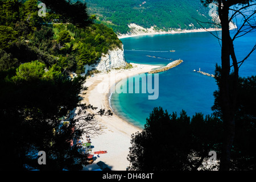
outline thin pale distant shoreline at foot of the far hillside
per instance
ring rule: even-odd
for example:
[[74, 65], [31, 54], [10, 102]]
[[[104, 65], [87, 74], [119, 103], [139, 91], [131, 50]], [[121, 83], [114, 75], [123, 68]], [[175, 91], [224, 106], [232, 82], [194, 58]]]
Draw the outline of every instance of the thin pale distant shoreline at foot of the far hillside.
[[160, 32], [147, 32], [147, 33], [142, 33], [142, 34], [134, 34], [134, 35], [127, 35], [127, 34], [122, 34], [118, 35], [118, 39], [125, 39], [125, 38], [132, 38], [135, 36], [144, 36], [144, 35], [165, 35], [165, 34], [185, 34], [185, 33], [194, 33], [194, 32], [213, 32], [213, 31], [221, 31], [221, 28], [199, 28], [199, 29], [194, 29], [194, 30], [180, 30], [180, 31], [160, 31]]

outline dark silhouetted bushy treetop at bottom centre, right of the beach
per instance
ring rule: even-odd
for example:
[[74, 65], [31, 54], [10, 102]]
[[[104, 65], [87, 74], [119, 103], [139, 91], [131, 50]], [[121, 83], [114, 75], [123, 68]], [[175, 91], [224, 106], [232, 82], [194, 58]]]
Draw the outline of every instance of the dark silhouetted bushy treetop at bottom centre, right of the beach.
[[197, 113], [180, 117], [155, 108], [141, 133], [133, 134], [128, 155], [130, 170], [196, 170], [212, 150], [218, 151], [222, 123]]

